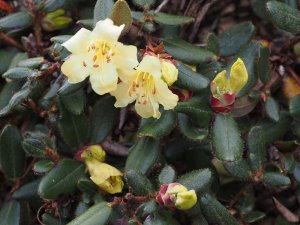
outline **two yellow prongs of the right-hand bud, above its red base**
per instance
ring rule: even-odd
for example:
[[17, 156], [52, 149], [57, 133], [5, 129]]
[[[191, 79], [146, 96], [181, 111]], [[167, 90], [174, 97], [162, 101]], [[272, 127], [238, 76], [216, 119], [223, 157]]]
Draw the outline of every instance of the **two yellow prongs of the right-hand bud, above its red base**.
[[247, 69], [243, 60], [238, 58], [231, 67], [229, 79], [226, 78], [226, 70], [223, 70], [211, 82], [211, 92], [216, 98], [223, 94], [237, 94], [247, 81]]

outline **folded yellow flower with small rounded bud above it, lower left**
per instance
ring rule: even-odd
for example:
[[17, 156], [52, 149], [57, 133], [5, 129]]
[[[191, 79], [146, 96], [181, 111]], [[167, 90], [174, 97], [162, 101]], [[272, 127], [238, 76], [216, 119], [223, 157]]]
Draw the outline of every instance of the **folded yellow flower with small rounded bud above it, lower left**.
[[91, 180], [99, 189], [110, 194], [120, 193], [124, 186], [123, 174], [115, 167], [103, 163], [105, 155], [99, 145], [91, 145], [79, 151], [79, 159], [85, 162]]

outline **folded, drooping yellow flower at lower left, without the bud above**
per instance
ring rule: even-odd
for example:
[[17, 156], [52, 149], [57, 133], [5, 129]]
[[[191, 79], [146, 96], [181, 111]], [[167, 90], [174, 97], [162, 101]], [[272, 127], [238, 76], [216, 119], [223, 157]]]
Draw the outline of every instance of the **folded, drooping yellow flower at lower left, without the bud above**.
[[86, 160], [85, 164], [91, 175], [91, 180], [100, 190], [110, 194], [122, 192], [124, 186], [122, 181], [123, 174], [118, 169], [95, 159]]

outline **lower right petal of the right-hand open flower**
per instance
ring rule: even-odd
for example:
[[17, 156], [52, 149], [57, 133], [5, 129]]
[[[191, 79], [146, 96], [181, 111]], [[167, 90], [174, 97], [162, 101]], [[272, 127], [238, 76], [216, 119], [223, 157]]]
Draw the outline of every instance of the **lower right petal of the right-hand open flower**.
[[174, 109], [178, 102], [178, 96], [169, 90], [168, 85], [161, 79], [155, 79], [156, 94], [155, 99], [164, 106], [165, 109]]

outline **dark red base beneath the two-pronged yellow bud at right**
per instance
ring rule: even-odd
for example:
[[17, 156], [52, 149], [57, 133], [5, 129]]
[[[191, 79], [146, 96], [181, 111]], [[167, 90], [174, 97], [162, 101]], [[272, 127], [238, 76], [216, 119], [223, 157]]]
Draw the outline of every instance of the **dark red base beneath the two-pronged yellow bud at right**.
[[211, 107], [217, 113], [228, 113], [234, 106], [235, 97], [235, 94], [223, 94], [221, 99], [211, 96]]

